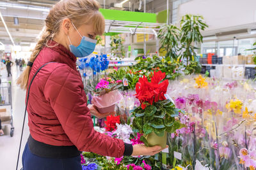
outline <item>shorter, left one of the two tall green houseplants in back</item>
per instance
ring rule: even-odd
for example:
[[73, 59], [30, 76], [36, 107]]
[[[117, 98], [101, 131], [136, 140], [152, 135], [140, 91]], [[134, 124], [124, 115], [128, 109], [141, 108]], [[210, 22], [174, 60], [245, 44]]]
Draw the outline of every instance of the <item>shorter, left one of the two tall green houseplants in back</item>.
[[166, 59], [177, 59], [180, 30], [175, 25], [163, 25], [158, 34], [161, 47], [166, 50]]

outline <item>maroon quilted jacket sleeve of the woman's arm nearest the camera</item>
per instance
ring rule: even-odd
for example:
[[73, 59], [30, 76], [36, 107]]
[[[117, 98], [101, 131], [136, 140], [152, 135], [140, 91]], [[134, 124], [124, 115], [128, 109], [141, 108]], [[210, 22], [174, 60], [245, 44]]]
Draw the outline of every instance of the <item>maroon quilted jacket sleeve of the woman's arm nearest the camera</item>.
[[122, 140], [94, 131], [83, 82], [76, 71], [68, 66], [54, 69], [45, 83], [44, 95], [78, 150], [110, 157], [124, 155]]

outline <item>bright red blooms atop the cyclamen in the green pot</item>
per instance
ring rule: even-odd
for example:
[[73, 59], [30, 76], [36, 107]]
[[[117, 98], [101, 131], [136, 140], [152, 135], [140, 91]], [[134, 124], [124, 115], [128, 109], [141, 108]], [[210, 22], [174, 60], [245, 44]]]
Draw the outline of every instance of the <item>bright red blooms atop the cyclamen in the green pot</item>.
[[150, 76], [151, 82], [148, 82], [146, 76], [139, 79], [138, 83], [136, 84], [135, 96], [137, 99], [139, 99], [142, 109], [147, 107], [145, 101], [152, 105], [154, 102], [163, 101], [166, 99], [164, 94], [167, 91], [169, 82], [168, 80], [164, 80], [162, 83], [160, 83], [164, 77], [165, 73], [162, 73], [162, 71], [154, 71], [154, 74]]

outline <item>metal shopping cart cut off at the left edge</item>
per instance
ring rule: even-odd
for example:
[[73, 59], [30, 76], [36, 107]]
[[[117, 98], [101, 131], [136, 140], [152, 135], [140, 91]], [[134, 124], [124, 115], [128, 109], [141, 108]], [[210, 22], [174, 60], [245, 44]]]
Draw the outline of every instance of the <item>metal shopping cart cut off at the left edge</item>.
[[2, 127], [11, 125], [10, 136], [13, 137], [13, 114], [12, 114], [12, 83], [2, 82], [0, 85], [0, 118]]

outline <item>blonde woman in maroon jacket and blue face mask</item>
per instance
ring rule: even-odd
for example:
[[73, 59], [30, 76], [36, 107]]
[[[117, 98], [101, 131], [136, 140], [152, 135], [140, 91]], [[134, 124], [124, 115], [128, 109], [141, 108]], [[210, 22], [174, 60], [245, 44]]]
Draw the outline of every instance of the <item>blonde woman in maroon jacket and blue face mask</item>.
[[160, 146], [132, 146], [93, 129], [91, 114], [106, 117], [112, 113], [100, 115], [93, 105], [86, 106], [76, 57], [90, 55], [95, 36], [103, 32], [104, 18], [95, 0], [63, 0], [49, 12], [42, 38], [17, 81], [27, 89], [38, 68], [52, 62], [40, 70], [31, 85], [31, 135], [22, 155], [24, 170], [81, 170], [80, 151], [110, 157], [154, 155], [161, 151]]

